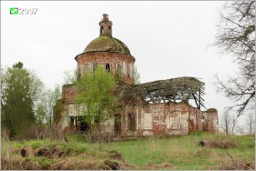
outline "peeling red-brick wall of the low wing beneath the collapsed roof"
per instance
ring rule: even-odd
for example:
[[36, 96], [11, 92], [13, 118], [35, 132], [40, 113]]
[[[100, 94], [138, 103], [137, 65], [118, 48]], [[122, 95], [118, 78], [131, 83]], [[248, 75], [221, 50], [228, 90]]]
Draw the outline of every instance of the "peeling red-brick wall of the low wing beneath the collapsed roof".
[[[137, 129], [133, 133], [128, 131], [127, 119], [128, 115], [136, 114]], [[144, 113], [152, 115], [152, 130], [144, 130]], [[187, 103], [170, 103], [170, 104], [148, 104], [146, 106], [124, 106], [122, 119], [122, 135], [123, 136], [142, 136], [144, 131], [151, 132], [152, 135], [187, 135], [194, 131], [205, 130], [208, 132], [218, 132], [218, 114], [216, 109], [208, 111], [200, 111], [196, 107]], [[178, 126], [171, 125], [168, 120], [176, 118]], [[169, 123], [168, 123], [169, 122]], [[169, 127], [168, 127], [169, 126]]]

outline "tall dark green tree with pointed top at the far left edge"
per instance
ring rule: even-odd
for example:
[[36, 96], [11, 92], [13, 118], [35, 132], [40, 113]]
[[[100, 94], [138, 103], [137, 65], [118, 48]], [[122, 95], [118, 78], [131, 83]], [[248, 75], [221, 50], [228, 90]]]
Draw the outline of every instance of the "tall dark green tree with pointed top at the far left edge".
[[28, 136], [22, 133], [28, 132], [36, 122], [34, 106], [42, 87], [37, 75], [24, 68], [21, 62], [3, 71], [1, 119], [11, 138]]

